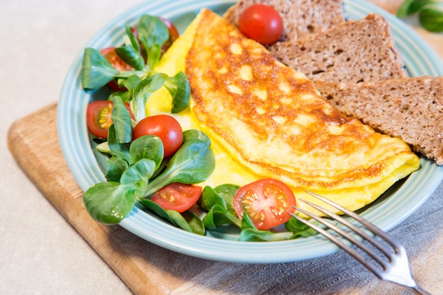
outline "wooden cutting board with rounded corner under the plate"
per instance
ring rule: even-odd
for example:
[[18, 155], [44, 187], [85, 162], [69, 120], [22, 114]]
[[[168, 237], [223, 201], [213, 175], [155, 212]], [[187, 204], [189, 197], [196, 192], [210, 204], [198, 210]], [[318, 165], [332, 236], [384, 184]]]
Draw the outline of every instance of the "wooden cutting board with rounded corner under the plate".
[[[404, 291], [379, 281], [342, 251], [290, 263], [216, 262], [163, 249], [120, 226], [98, 224], [86, 212], [83, 192], [64, 161], [56, 112], [54, 103], [14, 122], [8, 132], [9, 149], [42, 194], [135, 294], [385, 295]], [[403, 221], [394, 231], [401, 243], [410, 246], [415, 277], [435, 294], [443, 290], [441, 196], [439, 189], [412, 220]]]

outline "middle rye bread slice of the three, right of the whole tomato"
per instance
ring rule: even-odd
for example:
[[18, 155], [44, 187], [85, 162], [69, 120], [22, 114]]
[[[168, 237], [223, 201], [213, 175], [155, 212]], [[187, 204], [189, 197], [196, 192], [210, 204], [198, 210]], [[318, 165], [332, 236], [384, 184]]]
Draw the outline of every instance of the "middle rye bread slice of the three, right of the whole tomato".
[[335, 25], [270, 52], [313, 81], [362, 82], [408, 76], [389, 23], [378, 14]]

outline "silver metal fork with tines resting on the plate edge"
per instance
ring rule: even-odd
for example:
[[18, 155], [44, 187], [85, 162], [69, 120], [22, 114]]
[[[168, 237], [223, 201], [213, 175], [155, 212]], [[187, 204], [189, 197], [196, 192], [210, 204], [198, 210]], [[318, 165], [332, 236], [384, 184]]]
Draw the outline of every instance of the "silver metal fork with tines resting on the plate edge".
[[[363, 231], [361, 229], [361, 226], [357, 227], [343, 217], [338, 216], [337, 214], [334, 214], [333, 212], [330, 212], [327, 209], [324, 209], [323, 207], [308, 202], [304, 199], [300, 199], [300, 201], [309, 204], [309, 206], [317, 209], [319, 212], [323, 212], [323, 214], [326, 214], [326, 216], [328, 216], [330, 219], [333, 219], [335, 221], [335, 224], [334, 221], [331, 221], [330, 219], [321, 218], [299, 207], [295, 208], [299, 212], [309, 216], [311, 219], [315, 219], [324, 226], [327, 226], [329, 229], [332, 229], [340, 236], [345, 238], [347, 241], [350, 241], [352, 244], [360, 248], [360, 250], [363, 250], [365, 253], [367, 253], [374, 261], [365, 258], [361, 253], [357, 252], [355, 247], [352, 247], [352, 245], [346, 243], [343, 238], [339, 238], [336, 234], [331, 233], [330, 231], [323, 229], [321, 226], [317, 226], [316, 224], [313, 224], [310, 221], [297, 216], [296, 214], [292, 214], [292, 216], [294, 216], [296, 219], [303, 222], [307, 226], [310, 226], [312, 229], [318, 231], [318, 233], [323, 234], [323, 236], [326, 236], [326, 238], [328, 238], [330, 241], [333, 241], [333, 243], [337, 244], [340, 248], [343, 248], [343, 250], [345, 250], [353, 258], [362, 263], [362, 265], [367, 267], [367, 269], [373, 272], [379, 279], [399, 284], [410, 289], [410, 291], [413, 291], [415, 294], [430, 295], [429, 292], [420, 288], [415, 282], [413, 274], [410, 271], [410, 265], [405, 248], [403, 248], [402, 245], [395, 241], [392, 236], [382, 231], [377, 226], [362, 218], [362, 216], [359, 216], [355, 212], [351, 212], [350, 210], [345, 209], [342, 206], [330, 201], [329, 199], [321, 197], [320, 195], [317, 195], [313, 192], [306, 192], [309, 193], [309, 195], [312, 195], [313, 197], [321, 199], [321, 201], [330, 204], [330, 206], [333, 206], [347, 216], [352, 217], [352, 219], [357, 220], [360, 224], [365, 226], [366, 229], [369, 229], [369, 231], [371, 231], [374, 236], [370, 236], [369, 233]], [[343, 224], [348, 229], [346, 230], [343, 226], [338, 227], [336, 225], [337, 222], [340, 222], [340, 224]], [[350, 233], [349, 229], [353, 232], [352, 234]], [[361, 241], [361, 238], [356, 238], [354, 233], [357, 233], [358, 236], [363, 238], [363, 241]], [[386, 243], [380, 243], [380, 241], [377, 241], [375, 236], [379, 236], [379, 238], [381, 238]], [[371, 243], [377, 249], [379, 249], [379, 251], [375, 250], [375, 248], [370, 248], [367, 243], [364, 243], [364, 241]], [[380, 253], [377, 252], [381, 252], [383, 253], [383, 255], [380, 255]]]

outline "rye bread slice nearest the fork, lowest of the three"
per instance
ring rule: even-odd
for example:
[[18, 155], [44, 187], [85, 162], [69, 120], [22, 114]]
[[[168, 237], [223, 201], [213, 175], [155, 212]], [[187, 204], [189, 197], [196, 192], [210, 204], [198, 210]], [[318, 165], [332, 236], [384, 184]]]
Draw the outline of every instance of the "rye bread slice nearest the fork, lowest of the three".
[[346, 115], [401, 138], [413, 151], [443, 164], [443, 76], [362, 83], [318, 81], [316, 88]]

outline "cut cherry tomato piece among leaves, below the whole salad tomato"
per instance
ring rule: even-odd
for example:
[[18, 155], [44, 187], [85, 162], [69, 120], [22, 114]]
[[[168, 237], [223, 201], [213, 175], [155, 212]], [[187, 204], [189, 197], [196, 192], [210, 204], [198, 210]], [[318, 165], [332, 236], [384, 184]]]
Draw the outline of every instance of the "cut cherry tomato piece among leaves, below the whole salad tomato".
[[165, 210], [185, 212], [192, 207], [202, 195], [202, 187], [197, 185], [185, 185], [183, 183], [171, 183], [156, 192], [152, 201], [159, 204]]

